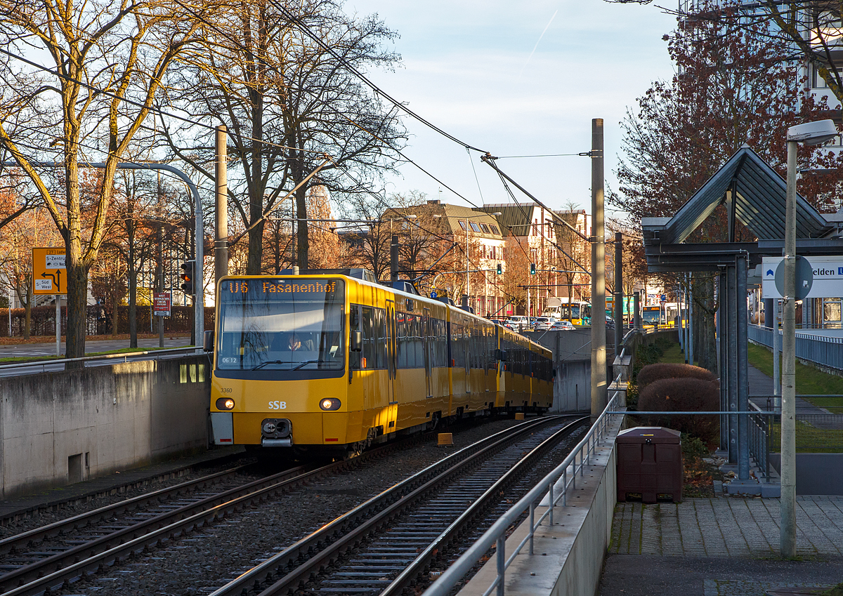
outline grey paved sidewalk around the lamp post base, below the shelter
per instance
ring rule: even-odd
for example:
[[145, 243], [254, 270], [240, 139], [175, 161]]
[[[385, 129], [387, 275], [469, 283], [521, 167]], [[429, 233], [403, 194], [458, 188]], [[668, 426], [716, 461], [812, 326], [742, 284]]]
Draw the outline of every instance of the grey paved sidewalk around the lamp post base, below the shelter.
[[781, 561], [779, 501], [618, 503], [602, 596], [763, 596], [843, 582], [843, 498], [797, 498], [797, 561]]

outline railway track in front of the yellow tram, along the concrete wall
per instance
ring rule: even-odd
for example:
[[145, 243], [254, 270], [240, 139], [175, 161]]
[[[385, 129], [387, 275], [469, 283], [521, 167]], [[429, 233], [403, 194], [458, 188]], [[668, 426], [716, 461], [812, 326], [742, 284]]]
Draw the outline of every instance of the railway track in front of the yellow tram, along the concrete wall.
[[319, 476], [383, 456], [405, 443], [385, 445], [315, 469], [297, 466], [246, 483], [236, 482], [236, 476], [250, 465], [237, 466], [10, 536], [0, 540], [0, 593], [23, 596], [62, 588], [126, 556], [314, 482]]

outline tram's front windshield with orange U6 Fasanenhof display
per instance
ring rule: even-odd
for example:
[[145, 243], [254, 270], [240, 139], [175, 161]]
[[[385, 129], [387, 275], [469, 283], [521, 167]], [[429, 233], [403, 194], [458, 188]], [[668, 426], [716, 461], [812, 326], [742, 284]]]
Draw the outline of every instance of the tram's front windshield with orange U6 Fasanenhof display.
[[226, 279], [218, 370], [342, 370], [341, 279]]

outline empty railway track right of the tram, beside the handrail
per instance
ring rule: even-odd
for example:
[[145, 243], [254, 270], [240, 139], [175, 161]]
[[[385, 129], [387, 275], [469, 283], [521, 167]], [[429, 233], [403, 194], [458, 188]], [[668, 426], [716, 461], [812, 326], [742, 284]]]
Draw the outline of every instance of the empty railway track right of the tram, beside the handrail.
[[[400, 594], [584, 420], [540, 418], [459, 450], [298, 540], [211, 596], [276, 596], [299, 588], [326, 596]], [[556, 428], [546, 428], [553, 423]]]

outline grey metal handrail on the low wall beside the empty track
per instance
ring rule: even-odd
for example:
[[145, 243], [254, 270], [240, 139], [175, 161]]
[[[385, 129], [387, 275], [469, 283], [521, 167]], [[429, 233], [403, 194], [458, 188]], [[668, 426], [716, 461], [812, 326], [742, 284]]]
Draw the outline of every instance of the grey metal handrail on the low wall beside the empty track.
[[[617, 380], [620, 380], [620, 375], [618, 375], [618, 378], [615, 379], [615, 381]], [[577, 471], [579, 471], [580, 476], [585, 475], [585, 466], [591, 465], [591, 457], [597, 450], [599, 443], [602, 442], [606, 436], [607, 428], [609, 426], [609, 418], [614, 417], [614, 414], [611, 412], [613, 412], [616, 407], [620, 407], [620, 391], [615, 391], [599, 418], [594, 421], [592, 427], [588, 430], [588, 433], [585, 435], [583, 440], [577, 444], [565, 460], [563, 460], [559, 466], [556, 466], [556, 469], [551, 471], [550, 474], [545, 476], [530, 492], [524, 495], [518, 503], [515, 503], [513, 507], [509, 508], [505, 514], [497, 519], [497, 521], [491, 525], [491, 528], [486, 530], [480, 539], [471, 545], [469, 549], [459, 557], [459, 559], [454, 561], [454, 563], [448, 567], [448, 569], [445, 570], [445, 572], [443, 572], [443, 574], [434, 583], [432, 583], [427, 590], [424, 591], [422, 596], [446, 596], [459, 582], [459, 580], [470, 572], [470, 569], [476, 565], [477, 561], [484, 556], [486, 551], [488, 551], [492, 545], [497, 545], [497, 578], [491, 586], [486, 589], [484, 596], [490, 594], [495, 588], [497, 588], [498, 596], [502, 596], [503, 579], [507, 567], [512, 564], [515, 557], [518, 556], [518, 553], [524, 548], [524, 545], [527, 545], [528, 543], [529, 554], [533, 554], [533, 536], [535, 534], [535, 530], [540, 527], [545, 518], [548, 518], [550, 526], [553, 525], [553, 508], [560, 500], [562, 501], [563, 506], [567, 504], [568, 487], [570, 486], [573, 489], [576, 489]], [[579, 464], [577, 464], [577, 456], [579, 456]], [[572, 471], [569, 474], [568, 468], [571, 467]], [[557, 486], [560, 479], [561, 485]], [[545, 494], [547, 495], [545, 501], [548, 503], [548, 508], [545, 513], [536, 520], [535, 502], [539, 498], [543, 498]], [[515, 548], [513, 554], [507, 559], [507, 529], [509, 529], [512, 524], [515, 524], [518, 519], [520, 519], [521, 515], [524, 514], [525, 511], [528, 511], [528, 509], [529, 533]]]

